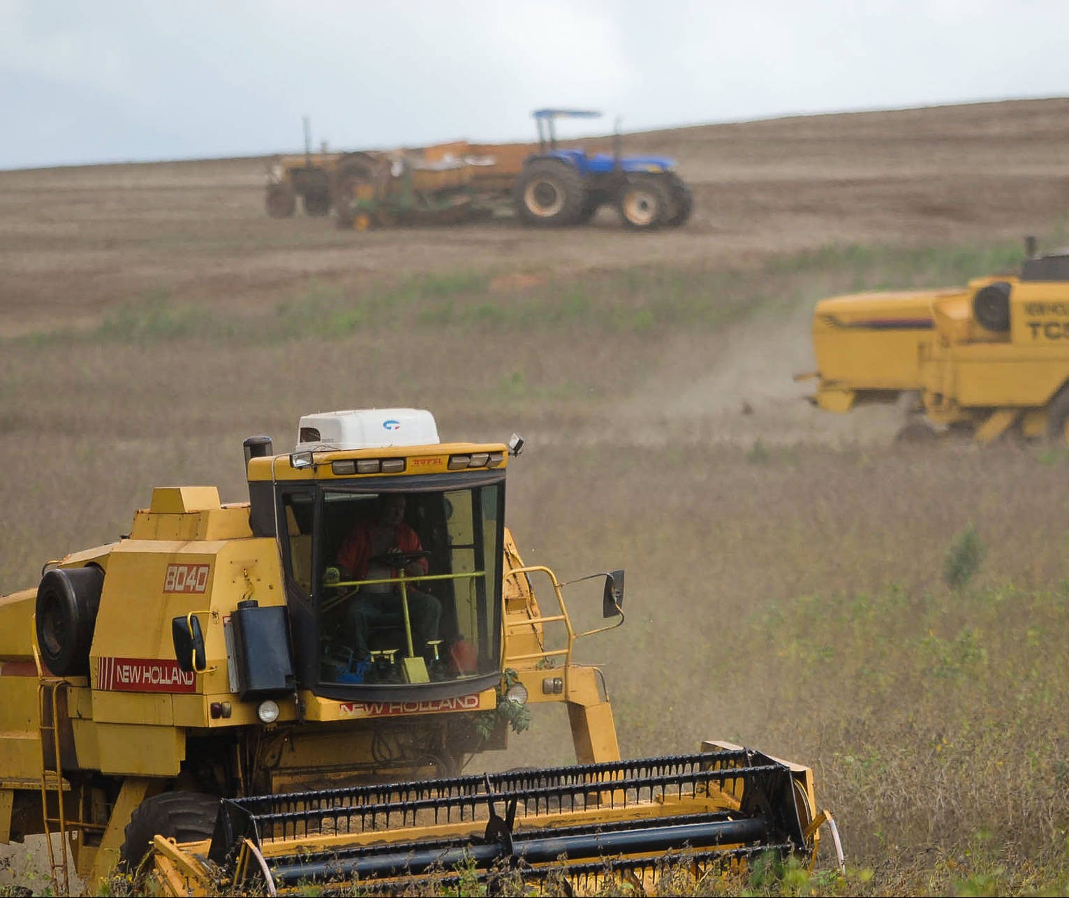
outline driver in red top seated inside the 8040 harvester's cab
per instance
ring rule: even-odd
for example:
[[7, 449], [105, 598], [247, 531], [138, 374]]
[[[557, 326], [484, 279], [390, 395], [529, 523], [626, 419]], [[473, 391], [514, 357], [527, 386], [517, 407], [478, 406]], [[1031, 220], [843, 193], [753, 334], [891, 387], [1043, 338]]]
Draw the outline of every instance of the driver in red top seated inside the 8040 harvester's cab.
[[[377, 515], [357, 522], [338, 549], [338, 569], [342, 579], [386, 579], [401, 576], [418, 577], [427, 573], [427, 558], [414, 558], [406, 564], [384, 563], [382, 556], [422, 552], [416, 531], [404, 523], [405, 497], [386, 493], [378, 497]], [[400, 561], [400, 559], [397, 559]], [[367, 584], [360, 587], [356, 601], [350, 603], [346, 616], [355, 638], [357, 659], [369, 657], [368, 638], [377, 624], [397, 624], [403, 620], [401, 588], [393, 583]], [[406, 584], [408, 620], [412, 622], [413, 650], [422, 654], [429, 639], [438, 638], [441, 605], [433, 595]]]

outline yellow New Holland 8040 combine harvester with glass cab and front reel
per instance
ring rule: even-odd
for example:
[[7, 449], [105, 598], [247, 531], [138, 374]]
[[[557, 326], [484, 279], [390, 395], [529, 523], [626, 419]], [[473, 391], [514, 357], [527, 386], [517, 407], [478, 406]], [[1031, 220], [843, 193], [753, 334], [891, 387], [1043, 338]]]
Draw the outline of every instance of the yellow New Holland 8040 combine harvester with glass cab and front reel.
[[[418, 409], [309, 415], [291, 453], [245, 440], [248, 502], [157, 487], [119, 542], [0, 599], [2, 840], [62, 834], [91, 882], [152, 851], [174, 895], [811, 861], [830, 817], [808, 769], [714, 742], [621, 760], [573, 652], [622, 623], [623, 572], [583, 578], [611, 621], [575, 632], [567, 584], [505, 526], [522, 443], [443, 444]], [[568, 709], [578, 763], [463, 775], [533, 702]]]

